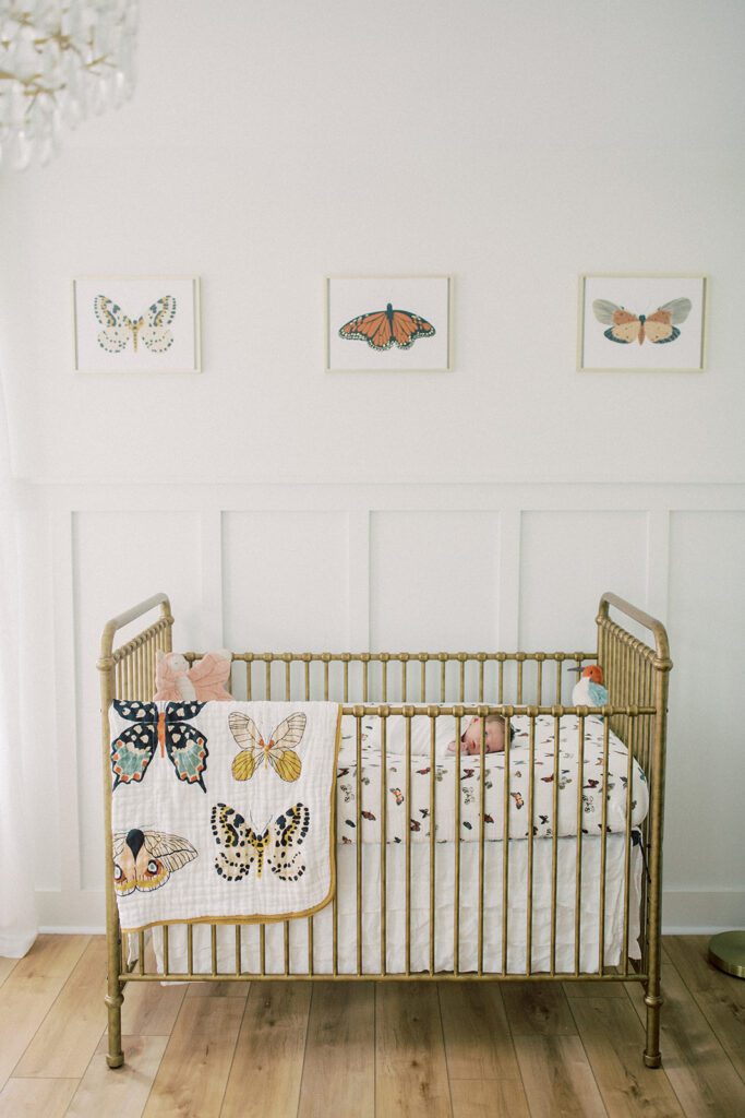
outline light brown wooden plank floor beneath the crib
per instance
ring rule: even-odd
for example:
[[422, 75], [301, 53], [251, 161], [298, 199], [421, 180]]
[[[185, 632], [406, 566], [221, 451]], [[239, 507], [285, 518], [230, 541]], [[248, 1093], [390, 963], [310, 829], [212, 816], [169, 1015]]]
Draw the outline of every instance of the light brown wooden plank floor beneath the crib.
[[133, 984], [106, 1065], [103, 937], [0, 959], [0, 1118], [742, 1118], [745, 980], [663, 940], [663, 1068], [637, 983]]

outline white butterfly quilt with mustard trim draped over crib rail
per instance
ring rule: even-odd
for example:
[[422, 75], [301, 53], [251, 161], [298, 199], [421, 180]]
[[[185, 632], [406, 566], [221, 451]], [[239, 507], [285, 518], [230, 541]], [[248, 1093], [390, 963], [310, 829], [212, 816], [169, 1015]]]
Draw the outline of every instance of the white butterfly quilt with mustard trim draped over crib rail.
[[118, 700], [109, 727], [124, 931], [286, 920], [328, 903], [336, 703]]

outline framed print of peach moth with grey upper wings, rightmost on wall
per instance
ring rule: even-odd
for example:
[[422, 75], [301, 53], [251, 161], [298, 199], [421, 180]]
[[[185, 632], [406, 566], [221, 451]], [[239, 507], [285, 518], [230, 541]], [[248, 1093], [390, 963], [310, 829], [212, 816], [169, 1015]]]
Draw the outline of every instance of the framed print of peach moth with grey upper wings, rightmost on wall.
[[706, 301], [705, 276], [581, 276], [577, 368], [703, 371]]

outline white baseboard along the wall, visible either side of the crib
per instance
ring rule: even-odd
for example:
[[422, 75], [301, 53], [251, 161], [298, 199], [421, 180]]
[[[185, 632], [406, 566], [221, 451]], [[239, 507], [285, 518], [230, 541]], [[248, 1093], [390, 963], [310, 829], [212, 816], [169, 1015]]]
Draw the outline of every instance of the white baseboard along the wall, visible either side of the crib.
[[[82, 890], [74, 897], [37, 893], [40, 931], [97, 936], [104, 932], [103, 892]], [[711, 936], [745, 928], [745, 890], [669, 889], [662, 894], [663, 936]]]

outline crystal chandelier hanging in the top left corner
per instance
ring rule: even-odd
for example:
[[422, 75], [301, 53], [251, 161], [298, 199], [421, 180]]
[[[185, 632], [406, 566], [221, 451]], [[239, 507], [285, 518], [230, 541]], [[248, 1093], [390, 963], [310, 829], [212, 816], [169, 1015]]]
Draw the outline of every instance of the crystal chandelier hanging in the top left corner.
[[0, 0], [0, 164], [46, 163], [60, 125], [134, 87], [136, 0]]

